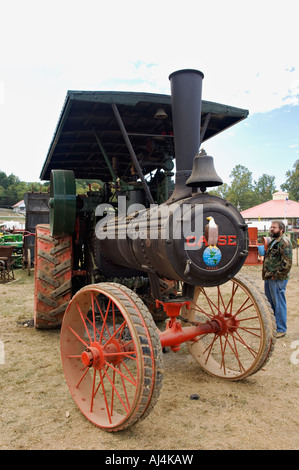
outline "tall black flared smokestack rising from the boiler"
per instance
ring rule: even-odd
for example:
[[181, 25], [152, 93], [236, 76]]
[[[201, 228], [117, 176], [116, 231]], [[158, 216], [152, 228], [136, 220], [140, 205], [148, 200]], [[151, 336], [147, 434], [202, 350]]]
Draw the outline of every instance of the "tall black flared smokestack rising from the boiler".
[[185, 184], [200, 147], [201, 91], [203, 73], [185, 69], [169, 76], [176, 159], [176, 186], [171, 200], [190, 194]]

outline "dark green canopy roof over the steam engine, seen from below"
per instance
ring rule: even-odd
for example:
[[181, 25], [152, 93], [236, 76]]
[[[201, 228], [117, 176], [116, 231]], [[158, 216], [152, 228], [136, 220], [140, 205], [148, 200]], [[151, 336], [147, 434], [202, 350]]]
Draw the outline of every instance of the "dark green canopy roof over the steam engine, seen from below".
[[[68, 91], [40, 179], [52, 169], [73, 170], [76, 178], [111, 181], [104, 155], [117, 174], [130, 173], [131, 156], [115, 117], [117, 110], [144, 174], [174, 154], [171, 96], [151, 93]], [[158, 108], [167, 114], [155, 118]], [[204, 142], [248, 116], [248, 111], [202, 101], [201, 139]]]

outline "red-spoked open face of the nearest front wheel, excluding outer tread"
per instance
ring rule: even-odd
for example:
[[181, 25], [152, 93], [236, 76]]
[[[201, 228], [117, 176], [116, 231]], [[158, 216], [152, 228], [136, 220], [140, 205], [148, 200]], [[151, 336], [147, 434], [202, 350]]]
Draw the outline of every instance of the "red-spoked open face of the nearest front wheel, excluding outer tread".
[[[99, 295], [106, 296], [105, 312]], [[94, 306], [89, 319], [88, 304]], [[94, 319], [99, 309], [100, 329]], [[123, 317], [121, 325], [113, 323], [116, 313]], [[129, 338], [124, 338], [124, 332]], [[70, 392], [86, 418], [107, 430], [125, 426], [141, 398], [143, 363], [134, 325], [117, 298], [90, 286], [74, 296], [63, 320], [61, 355]]]

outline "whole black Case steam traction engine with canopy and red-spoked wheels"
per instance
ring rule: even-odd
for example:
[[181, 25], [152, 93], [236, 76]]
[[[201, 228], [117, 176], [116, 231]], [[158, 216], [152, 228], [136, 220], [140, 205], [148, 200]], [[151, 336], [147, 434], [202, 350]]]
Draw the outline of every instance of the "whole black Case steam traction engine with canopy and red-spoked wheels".
[[[71, 394], [108, 431], [153, 409], [163, 348], [186, 342], [205, 371], [240, 380], [274, 345], [269, 304], [237, 274], [247, 225], [207, 192], [222, 180], [199, 153], [247, 111], [202, 101], [199, 71], [169, 78], [171, 97], [69, 92], [41, 173], [50, 224], [36, 228], [35, 326], [61, 325]], [[77, 195], [78, 178], [98, 185]]]

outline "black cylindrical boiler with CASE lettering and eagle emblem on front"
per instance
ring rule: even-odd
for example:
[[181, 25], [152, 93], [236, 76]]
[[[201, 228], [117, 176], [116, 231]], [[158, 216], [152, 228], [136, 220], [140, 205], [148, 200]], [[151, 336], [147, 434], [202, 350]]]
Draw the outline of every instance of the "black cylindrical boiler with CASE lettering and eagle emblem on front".
[[[217, 237], [210, 245], [211, 220]], [[248, 254], [247, 225], [240, 213], [207, 193], [103, 219], [96, 233], [102, 237], [101, 252], [112, 263], [191, 285], [227, 282]]]

